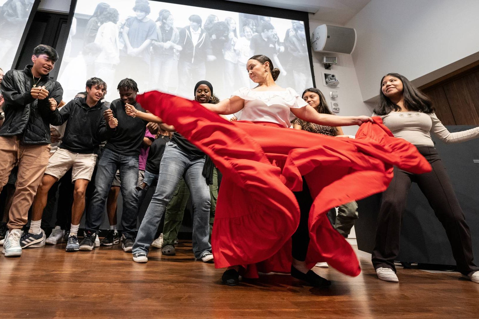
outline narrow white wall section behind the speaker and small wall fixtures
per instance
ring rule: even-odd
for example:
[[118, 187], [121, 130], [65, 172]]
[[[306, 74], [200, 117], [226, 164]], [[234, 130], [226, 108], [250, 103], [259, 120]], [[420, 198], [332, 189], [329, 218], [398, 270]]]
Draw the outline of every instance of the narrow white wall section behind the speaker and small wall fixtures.
[[[330, 22], [322, 22], [319, 20], [309, 20], [309, 31], [312, 33], [314, 29], [320, 24], [330, 24]], [[356, 76], [356, 70], [354, 69], [353, 58], [351, 55], [342, 53], [319, 53], [312, 51], [313, 55], [313, 69], [316, 87], [323, 92], [324, 96], [328, 100], [331, 108], [330, 92], [337, 91], [338, 98], [334, 99], [339, 103], [340, 112], [338, 115], [371, 115], [372, 108], [363, 102], [361, 97], [361, 91], [359, 90], [359, 83]], [[322, 64], [322, 57], [336, 56], [338, 58], [338, 64], [331, 66], [331, 70], [325, 70]], [[339, 88], [330, 86], [324, 86], [322, 81], [321, 72], [333, 73], [339, 80]], [[344, 126], [342, 129], [345, 134], [354, 135], [359, 126]]]

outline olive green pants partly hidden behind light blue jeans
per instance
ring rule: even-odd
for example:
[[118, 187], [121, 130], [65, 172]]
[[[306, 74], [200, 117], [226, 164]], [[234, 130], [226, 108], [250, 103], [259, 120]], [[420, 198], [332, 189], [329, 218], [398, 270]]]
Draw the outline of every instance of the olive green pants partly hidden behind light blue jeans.
[[[210, 236], [209, 242], [211, 242], [211, 231], [213, 230], [213, 221], [215, 220], [216, 200], [218, 198], [218, 172], [216, 167], [213, 170], [213, 184], [210, 186], [211, 195], [211, 209], [210, 209]], [[176, 191], [171, 198], [170, 204], [165, 212], [165, 224], [163, 226], [163, 245], [172, 245], [178, 238], [178, 232], [180, 231], [183, 221], [184, 209], [190, 198], [190, 190], [183, 179], [180, 179]]]

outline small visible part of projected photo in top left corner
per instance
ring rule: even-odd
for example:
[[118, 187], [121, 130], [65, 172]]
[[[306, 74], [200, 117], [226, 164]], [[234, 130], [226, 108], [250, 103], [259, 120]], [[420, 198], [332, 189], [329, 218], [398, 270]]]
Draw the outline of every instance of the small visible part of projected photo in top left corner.
[[35, 0], [0, 0], [0, 67], [11, 69]]

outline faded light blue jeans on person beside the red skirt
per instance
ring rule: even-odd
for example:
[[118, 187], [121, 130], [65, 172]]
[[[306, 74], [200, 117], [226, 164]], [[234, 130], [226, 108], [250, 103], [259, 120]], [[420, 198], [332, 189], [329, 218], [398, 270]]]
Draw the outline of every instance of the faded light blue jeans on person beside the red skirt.
[[155, 194], [138, 229], [132, 253], [148, 253], [149, 246], [155, 239], [161, 217], [182, 176], [190, 189], [193, 200], [194, 257], [198, 259], [204, 253], [211, 252], [211, 245], [208, 242], [210, 193], [206, 179], [202, 175], [204, 165], [204, 157], [191, 156], [183, 152], [175, 143], [168, 142], [166, 144], [158, 177], [161, 183], [157, 184]]

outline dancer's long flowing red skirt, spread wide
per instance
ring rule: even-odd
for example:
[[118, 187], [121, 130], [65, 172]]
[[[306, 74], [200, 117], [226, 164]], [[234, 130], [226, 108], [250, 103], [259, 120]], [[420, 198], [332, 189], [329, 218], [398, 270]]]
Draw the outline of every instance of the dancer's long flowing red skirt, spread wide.
[[393, 165], [414, 174], [431, 171], [416, 147], [394, 138], [378, 117], [361, 125], [356, 139], [343, 139], [226, 121], [195, 101], [158, 91], [137, 101], [208, 154], [223, 174], [212, 233], [215, 265], [243, 265], [247, 277], [290, 271], [291, 235], [299, 223], [293, 191], [301, 190], [302, 176], [314, 199], [306, 263], [326, 261], [355, 276], [357, 257], [326, 213], [384, 191]]

